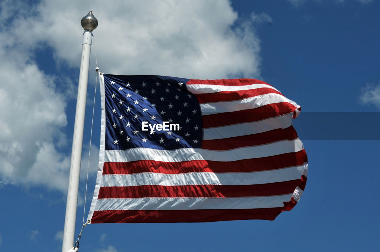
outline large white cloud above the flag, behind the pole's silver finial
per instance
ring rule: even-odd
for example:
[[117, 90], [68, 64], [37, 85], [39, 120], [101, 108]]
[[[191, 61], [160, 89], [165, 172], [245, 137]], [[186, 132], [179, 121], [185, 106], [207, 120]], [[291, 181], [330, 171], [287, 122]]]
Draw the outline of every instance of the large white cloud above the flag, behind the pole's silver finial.
[[94, 36], [103, 72], [196, 78], [259, 74], [258, 45], [231, 28], [237, 14], [227, 0], [66, 3], [40, 7], [40, 17], [30, 20], [28, 41], [46, 39], [57, 58], [71, 66], [78, 65], [81, 53], [78, 17], [91, 9], [99, 20]]

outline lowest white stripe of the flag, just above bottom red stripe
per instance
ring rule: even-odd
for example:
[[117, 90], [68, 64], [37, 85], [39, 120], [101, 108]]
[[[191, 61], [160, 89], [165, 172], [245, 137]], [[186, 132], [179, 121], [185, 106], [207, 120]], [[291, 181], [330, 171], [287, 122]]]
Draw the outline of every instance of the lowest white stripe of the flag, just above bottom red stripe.
[[284, 206], [283, 202], [290, 198], [291, 194], [233, 198], [105, 198], [98, 199], [95, 211], [272, 208]]

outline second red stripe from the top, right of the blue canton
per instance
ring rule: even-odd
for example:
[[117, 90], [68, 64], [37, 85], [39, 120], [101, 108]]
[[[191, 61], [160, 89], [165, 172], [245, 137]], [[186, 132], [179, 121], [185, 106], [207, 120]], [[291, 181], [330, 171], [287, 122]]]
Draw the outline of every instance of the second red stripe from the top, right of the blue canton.
[[282, 95], [279, 91], [276, 91], [272, 88], [255, 88], [249, 90], [239, 90], [239, 91], [222, 91], [217, 93], [208, 93], [208, 94], [194, 94], [198, 98], [199, 103], [206, 102], [218, 102], [218, 101], [236, 101], [244, 98], [254, 97], [258, 95], [265, 94], [279, 94]]

